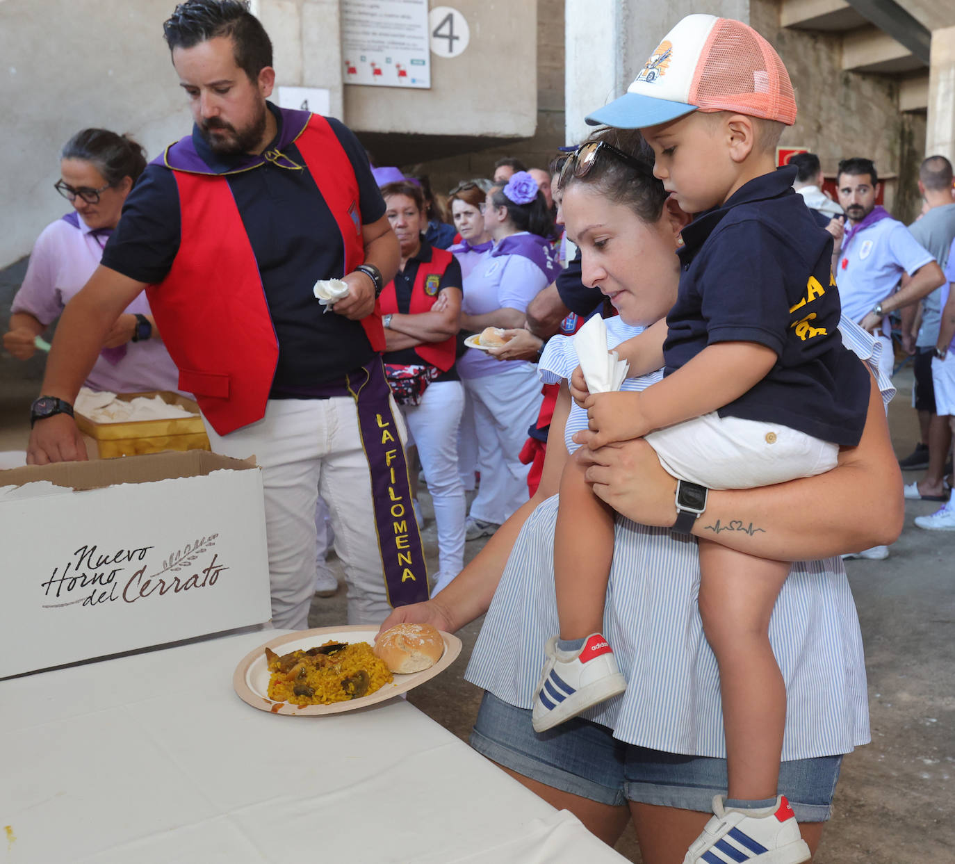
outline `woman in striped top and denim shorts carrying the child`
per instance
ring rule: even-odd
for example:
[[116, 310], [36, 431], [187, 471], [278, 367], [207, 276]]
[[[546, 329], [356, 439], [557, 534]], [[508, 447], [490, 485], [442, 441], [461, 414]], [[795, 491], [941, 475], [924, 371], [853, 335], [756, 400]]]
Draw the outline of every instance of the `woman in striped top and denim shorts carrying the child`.
[[[652, 160], [639, 133], [605, 130], [562, 172], [562, 212], [582, 250], [584, 283], [599, 287], [620, 313], [606, 321], [611, 347], [665, 316], [676, 299], [675, 253], [690, 217], [653, 178]], [[711, 491], [706, 517], [691, 529], [692, 537], [793, 562], [770, 623], [790, 694], [779, 790], [813, 851], [842, 754], [869, 738], [859, 622], [838, 553], [884, 542], [902, 516], [884, 470], [895, 458], [882, 407], [891, 385], [879, 379], [873, 340], [851, 322], [846, 330], [846, 344], [873, 373], [859, 446], [841, 450], [828, 474]], [[571, 455], [588, 434], [588, 417], [566, 387], [577, 364], [570, 353], [552, 343], [541, 357], [541, 377], [563, 384], [538, 492], [439, 597], [394, 610], [382, 627], [428, 622], [454, 632], [486, 613], [465, 675], [485, 690], [472, 746], [607, 843], [632, 819], [645, 864], [676, 864], [727, 784], [719, 674], [696, 601], [697, 544], [668, 530], [676, 481], [645, 441]], [[628, 380], [639, 390], [661, 374]], [[531, 707], [543, 641], [558, 624], [554, 540], [571, 458], [589, 466], [595, 492], [618, 514], [605, 632], [627, 689], [538, 734]], [[859, 500], [870, 507], [859, 508]]]

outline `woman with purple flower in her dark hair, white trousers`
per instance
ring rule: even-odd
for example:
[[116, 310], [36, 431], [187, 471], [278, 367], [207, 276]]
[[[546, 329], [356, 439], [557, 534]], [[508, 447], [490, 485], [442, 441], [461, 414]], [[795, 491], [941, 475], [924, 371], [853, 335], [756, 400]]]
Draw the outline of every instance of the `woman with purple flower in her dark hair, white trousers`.
[[[537, 180], [519, 171], [492, 186], [480, 205], [494, 246], [464, 280], [461, 329], [524, 326], [527, 305], [560, 269], [546, 239], [552, 230]], [[527, 499], [529, 466], [520, 462], [528, 427], [541, 408], [537, 369], [525, 361], [500, 361], [468, 348], [457, 361], [474, 408], [480, 488], [471, 503], [467, 537], [493, 534]]]

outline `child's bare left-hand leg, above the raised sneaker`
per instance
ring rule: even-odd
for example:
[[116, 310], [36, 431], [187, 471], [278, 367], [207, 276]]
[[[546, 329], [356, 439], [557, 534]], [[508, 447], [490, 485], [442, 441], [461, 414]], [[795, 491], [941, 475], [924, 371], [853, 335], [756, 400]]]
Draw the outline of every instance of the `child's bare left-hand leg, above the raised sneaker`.
[[613, 559], [613, 511], [591, 492], [584, 468], [568, 459], [554, 538], [554, 586], [561, 639], [604, 629], [606, 582]]

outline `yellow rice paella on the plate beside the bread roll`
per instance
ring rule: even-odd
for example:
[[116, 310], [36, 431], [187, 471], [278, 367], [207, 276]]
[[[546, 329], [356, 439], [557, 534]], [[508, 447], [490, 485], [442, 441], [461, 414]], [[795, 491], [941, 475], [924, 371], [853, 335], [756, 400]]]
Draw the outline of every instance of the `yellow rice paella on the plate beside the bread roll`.
[[329, 642], [278, 655], [265, 648], [268, 698], [294, 705], [330, 705], [368, 696], [393, 680], [371, 645]]

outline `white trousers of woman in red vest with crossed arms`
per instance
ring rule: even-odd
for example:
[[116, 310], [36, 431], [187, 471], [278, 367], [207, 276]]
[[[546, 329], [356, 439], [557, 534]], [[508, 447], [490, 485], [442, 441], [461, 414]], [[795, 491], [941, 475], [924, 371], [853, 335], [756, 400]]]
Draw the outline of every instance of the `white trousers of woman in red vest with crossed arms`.
[[435, 381], [424, 391], [420, 405], [400, 408], [435, 505], [439, 564], [433, 581], [435, 587], [443, 586], [464, 566], [464, 484], [457, 467], [464, 388], [459, 381]]

